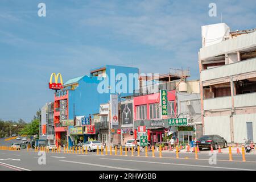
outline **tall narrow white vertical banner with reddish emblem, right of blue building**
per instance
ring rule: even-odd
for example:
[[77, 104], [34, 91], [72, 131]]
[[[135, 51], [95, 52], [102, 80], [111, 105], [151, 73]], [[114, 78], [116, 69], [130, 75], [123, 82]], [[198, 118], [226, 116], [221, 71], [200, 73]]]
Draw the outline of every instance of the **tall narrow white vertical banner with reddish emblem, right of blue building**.
[[111, 129], [118, 129], [118, 97], [117, 95], [110, 95], [111, 108]]

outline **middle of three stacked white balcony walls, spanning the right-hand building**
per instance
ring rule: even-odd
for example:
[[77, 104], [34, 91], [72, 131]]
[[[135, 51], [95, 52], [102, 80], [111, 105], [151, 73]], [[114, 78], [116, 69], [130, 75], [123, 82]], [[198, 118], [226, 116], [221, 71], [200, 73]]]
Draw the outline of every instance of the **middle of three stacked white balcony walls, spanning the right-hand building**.
[[240, 61], [237, 63], [226, 64], [216, 68], [205, 69], [201, 72], [201, 79], [202, 81], [208, 81], [255, 71], [256, 58]]

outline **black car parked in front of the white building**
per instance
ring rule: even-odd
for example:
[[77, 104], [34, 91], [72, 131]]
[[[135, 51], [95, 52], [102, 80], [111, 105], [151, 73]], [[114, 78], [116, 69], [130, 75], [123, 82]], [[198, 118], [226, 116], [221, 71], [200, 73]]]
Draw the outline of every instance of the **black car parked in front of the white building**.
[[210, 148], [210, 146], [212, 146], [214, 150], [216, 150], [218, 146], [224, 148], [228, 147], [228, 143], [223, 137], [220, 137], [220, 135], [204, 135], [196, 141], [196, 144], [199, 150], [202, 150], [202, 148]]

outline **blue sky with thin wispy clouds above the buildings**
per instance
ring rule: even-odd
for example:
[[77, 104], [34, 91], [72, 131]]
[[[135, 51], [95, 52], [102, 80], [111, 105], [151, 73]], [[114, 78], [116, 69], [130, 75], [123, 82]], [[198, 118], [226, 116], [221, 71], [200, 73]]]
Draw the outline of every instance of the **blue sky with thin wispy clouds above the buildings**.
[[[38, 4], [46, 3], [46, 17]], [[217, 17], [209, 17], [209, 3]], [[104, 64], [143, 73], [191, 69], [199, 78], [201, 26], [255, 28], [256, 1], [0, 1], [0, 118], [30, 121], [53, 100], [49, 76], [63, 80]]]

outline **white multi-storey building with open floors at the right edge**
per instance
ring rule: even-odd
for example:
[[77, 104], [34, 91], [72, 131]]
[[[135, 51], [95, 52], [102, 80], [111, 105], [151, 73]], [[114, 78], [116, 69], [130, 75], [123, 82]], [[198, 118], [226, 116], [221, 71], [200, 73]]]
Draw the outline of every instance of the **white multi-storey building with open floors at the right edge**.
[[256, 29], [202, 28], [199, 51], [204, 134], [228, 142], [256, 141]]

